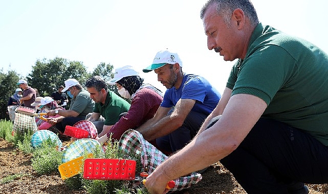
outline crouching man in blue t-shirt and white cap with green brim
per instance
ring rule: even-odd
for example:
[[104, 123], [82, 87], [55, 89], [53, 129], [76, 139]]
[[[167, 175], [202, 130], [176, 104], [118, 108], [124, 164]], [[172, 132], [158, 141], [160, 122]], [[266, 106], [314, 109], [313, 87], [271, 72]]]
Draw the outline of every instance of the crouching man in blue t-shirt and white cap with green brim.
[[137, 130], [165, 153], [176, 152], [196, 135], [221, 94], [203, 77], [185, 74], [177, 53], [158, 52], [143, 72], [151, 70], [167, 90], [155, 116]]

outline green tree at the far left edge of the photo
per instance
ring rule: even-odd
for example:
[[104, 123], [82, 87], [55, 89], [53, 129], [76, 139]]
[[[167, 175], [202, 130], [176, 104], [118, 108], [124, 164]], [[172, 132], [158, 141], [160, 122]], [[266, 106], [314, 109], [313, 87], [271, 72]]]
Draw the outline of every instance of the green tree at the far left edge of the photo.
[[4, 74], [3, 70], [0, 70], [0, 119], [9, 119], [6, 114], [7, 104], [9, 97], [15, 92], [18, 86], [16, 83], [19, 80], [19, 75], [16, 71], [10, 70], [7, 74]]

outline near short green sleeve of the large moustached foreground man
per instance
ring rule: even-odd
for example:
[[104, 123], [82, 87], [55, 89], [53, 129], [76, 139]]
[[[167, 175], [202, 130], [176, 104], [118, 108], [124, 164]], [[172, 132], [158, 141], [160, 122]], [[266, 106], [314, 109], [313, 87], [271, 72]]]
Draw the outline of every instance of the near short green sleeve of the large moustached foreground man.
[[294, 68], [295, 59], [283, 48], [276, 45], [264, 46], [241, 64], [233, 66], [229, 87], [233, 86], [232, 95], [252, 94], [269, 105], [277, 91], [293, 79]]

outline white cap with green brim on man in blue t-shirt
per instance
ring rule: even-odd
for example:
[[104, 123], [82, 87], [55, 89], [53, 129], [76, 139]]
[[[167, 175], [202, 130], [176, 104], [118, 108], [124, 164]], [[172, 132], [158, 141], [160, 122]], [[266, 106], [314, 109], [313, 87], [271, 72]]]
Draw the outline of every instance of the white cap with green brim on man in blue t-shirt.
[[152, 64], [142, 69], [142, 71], [149, 72], [151, 70], [158, 69], [166, 64], [174, 65], [176, 63], [179, 63], [180, 67], [182, 67], [182, 61], [180, 60], [178, 53], [172, 53], [168, 50], [159, 51], [156, 54], [154, 61], [152, 61]]

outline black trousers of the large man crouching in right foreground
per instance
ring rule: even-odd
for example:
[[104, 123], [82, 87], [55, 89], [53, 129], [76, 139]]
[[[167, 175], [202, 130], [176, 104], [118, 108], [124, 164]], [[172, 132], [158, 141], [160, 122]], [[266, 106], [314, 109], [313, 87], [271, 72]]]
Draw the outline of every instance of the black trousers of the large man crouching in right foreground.
[[239, 147], [220, 162], [249, 194], [292, 193], [303, 183], [328, 183], [328, 147], [272, 119], [260, 118]]

